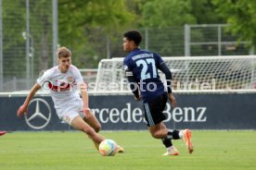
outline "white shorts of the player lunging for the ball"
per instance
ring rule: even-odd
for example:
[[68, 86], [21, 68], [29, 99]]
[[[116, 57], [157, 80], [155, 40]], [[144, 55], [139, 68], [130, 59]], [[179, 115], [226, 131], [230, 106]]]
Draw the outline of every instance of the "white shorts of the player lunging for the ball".
[[72, 103], [65, 103], [61, 108], [56, 108], [56, 112], [58, 117], [67, 124], [72, 123], [72, 120], [76, 116], [81, 116], [82, 118], [85, 116], [83, 113], [83, 101], [77, 100]]

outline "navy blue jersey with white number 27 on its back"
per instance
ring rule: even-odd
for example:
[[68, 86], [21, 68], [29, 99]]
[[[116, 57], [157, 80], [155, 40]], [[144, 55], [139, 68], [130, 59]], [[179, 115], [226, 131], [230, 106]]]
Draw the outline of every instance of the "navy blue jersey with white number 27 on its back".
[[138, 48], [126, 55], [123, 60], [123, 68], [134, 76], [144, 102], [165, 92], [158, 73], [158, 68], [162, 63], [160, 55]]

